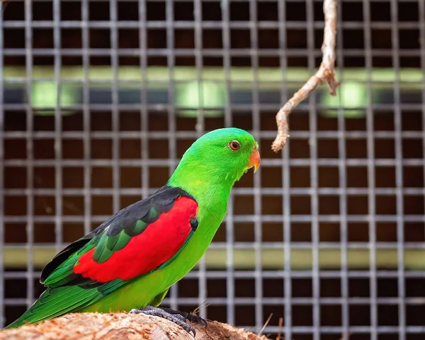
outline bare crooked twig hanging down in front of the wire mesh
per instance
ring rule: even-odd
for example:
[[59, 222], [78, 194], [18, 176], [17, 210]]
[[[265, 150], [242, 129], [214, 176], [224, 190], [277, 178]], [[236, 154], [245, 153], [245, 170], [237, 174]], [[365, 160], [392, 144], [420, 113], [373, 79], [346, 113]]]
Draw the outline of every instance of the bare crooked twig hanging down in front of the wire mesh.
[[299, 89], [289, 101], [282, 106], [276, 115], [276, 123], [278, 125], [278, 135], [271, 145], [274, 152], [283, 149], [286, 140], [289, 137], [288, 115], [293, 109], [301, 103], [313, 91], [317, 85], [324, 81], [329, 85], [329, 93], [336, 96], [336, 88], [339, 81], [335, 79], [335, 40], [336, 40], [336, 0], [323, 1], [324, 12], [324, 34], [322, 44], [322, 64], [320, 64], [314, 76]]

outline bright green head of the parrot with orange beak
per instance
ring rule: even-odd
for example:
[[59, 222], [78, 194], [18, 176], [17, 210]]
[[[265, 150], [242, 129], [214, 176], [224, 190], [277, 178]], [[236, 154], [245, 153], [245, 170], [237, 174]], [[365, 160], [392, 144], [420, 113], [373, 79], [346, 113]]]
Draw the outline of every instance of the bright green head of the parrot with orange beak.
[[198, 138], [183, 154], [168, 185], [183, 188], [197, 200], [224, 198], [235, 181], [259, 165], [258, 143], [249, 132], [217, 129]]

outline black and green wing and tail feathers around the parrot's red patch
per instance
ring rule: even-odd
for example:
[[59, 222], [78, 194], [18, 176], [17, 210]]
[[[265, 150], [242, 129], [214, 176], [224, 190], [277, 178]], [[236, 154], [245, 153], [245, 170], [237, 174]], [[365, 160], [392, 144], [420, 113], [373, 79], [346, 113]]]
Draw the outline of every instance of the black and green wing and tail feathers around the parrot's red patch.
[[164, 186], [154, 195], [124, 208], [91, 233], [69, 244], [43, 269], [40, 282], [47, 287], [45, 292], [28, 311], [6, 328], [26, 323], [37, 324], [68, 312], [79, 312], [132, 282], [134, 279], [116, 278], [99, 283], [74, 273], [74, 266], [81, 255], [92, 249], [94, 261], [107, 261], [115, 251], [123, 249], [132, 237], [144, 232], [162, 212], [171, 210], [180, 196], [191, 197], [180, 188]]

